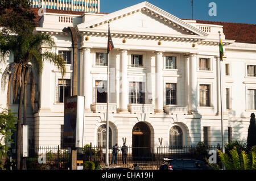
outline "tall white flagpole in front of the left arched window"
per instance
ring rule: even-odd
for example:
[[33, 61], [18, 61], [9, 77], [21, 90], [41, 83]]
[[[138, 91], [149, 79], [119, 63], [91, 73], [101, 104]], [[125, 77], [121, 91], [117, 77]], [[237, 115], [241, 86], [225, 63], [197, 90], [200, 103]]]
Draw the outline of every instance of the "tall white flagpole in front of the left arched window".
[[[110, 27], [110, 22], [109, 27]], [[108, 29], [109, 30], [109, 29]], [[107, 110], [106, 110], [106, 166], [109, 166], [109, 52], [107, 56], [108, 63], [108, 78], [107, 78]]]

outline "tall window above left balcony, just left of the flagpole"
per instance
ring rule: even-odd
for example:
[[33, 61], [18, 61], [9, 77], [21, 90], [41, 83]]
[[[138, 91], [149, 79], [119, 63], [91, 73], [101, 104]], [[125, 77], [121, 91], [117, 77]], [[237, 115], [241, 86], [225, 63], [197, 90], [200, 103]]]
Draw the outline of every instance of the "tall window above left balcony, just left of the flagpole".
[[96, 103], [106, 103], [108, 94], [107, 81], [95, 81], [95, 102]]

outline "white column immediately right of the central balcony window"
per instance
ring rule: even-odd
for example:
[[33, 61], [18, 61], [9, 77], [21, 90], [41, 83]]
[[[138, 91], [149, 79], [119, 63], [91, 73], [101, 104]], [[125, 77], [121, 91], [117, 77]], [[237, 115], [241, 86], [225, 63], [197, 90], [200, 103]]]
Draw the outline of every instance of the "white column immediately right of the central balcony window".
[[163, 112], [163, 52], [155, 52], [155, 113]]

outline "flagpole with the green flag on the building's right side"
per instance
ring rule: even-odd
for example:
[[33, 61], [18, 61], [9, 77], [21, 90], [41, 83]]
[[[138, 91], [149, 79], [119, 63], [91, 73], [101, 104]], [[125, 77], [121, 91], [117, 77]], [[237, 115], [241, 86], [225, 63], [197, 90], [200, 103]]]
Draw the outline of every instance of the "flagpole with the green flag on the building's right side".
[[[218, 36], [218, 42], [219, 42], [219, 47], [220, 47], [220, 44], [221, 44], [221, 40], [220, 40], [220, 37], [221, 37], [221, 34], [220, 34], [220, 31], [218, 32], [219, 36]], [[219, 50], [220, 51], [220, 50]], [[224, 146], [224, 134], [223, 134], [223, 107], [222, 107], [222, 73], [221, 73], [221, 61], [222, 60], [222, 54], [220, 52], [220, 101], [221, 101], [221, 146], [222, 146], [222, 153], [225, 153], [225, 146]]]

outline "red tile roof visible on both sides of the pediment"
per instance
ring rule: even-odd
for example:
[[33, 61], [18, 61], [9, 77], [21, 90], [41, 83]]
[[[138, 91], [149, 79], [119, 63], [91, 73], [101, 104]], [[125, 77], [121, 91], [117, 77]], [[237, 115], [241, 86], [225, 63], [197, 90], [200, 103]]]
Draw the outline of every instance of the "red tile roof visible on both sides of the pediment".
[[[40, 16], [38, 15], [38, 8], [31, 8], [34, 11], [36, 19], [35, 23], [39, 26]], [[46, 9], [46, 12], [58, 13], [58, 14], [74, 14], [82, 15], [84, 12], [81, 11], [66, 11], [66, 10], [52, 10]], [[96, 14], [108, 14], [96, 12]], [[213, 22], [206, 20], [196, 20], [196, 23], [202, 24], [217, 24], [223, 26], [223, 31], [228, 40], [236, 40], [238, 43], [253, 43], [256, 44], [256, 24], [246, 23], [229, 23], [229, 22]]]

